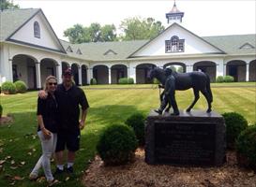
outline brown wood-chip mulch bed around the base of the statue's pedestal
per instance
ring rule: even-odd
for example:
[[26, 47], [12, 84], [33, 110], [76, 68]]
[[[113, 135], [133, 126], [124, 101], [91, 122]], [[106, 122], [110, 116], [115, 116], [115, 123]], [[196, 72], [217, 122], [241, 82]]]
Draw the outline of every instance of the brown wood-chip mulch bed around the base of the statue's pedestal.
[[227, 152], [227, 163], [219, 167], [147, 165], [138, 149], [135, 162], [104, 166], [98, 155], [83, 176], [86, 187], [256, 187], [256, 174], [237, 165], [235, 153]]

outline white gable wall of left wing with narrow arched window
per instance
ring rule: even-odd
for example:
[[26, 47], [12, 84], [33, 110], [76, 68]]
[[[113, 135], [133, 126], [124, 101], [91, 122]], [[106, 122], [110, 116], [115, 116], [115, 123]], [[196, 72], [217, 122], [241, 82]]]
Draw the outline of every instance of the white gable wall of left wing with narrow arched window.
[[[39, 36], [34, 35], [34, 26], [36, 22], [39, 25]], [[38, 11], [37, 15], [31, 18], [28, 22], [25, 22], [25, 24], [12, 36], [9, 36], [8, 40], [47, 50], [65, 52], [59, 39], [53, 32], [53, 28], [41, 11]]]

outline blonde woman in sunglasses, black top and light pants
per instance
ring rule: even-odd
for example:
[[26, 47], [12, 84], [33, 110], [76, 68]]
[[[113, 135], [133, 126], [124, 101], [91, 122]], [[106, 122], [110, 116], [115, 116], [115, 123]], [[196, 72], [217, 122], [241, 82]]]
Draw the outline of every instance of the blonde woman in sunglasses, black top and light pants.
[[57, 141], [57, 102], [54, 96], [56, 87], [57, 79], [54, 76], [49, 76], [45, 79], [44, 87], [45, 92], [48, 93], [47, 98], [40, 99], [38, 97], [38, 137], [41, 141], [42, 155], [29, 175], [30, 180], [36, 180], [42, 166], [49, 186], [58, 183], [58, 180], [54, 180], [51, 170], [51, 157]]

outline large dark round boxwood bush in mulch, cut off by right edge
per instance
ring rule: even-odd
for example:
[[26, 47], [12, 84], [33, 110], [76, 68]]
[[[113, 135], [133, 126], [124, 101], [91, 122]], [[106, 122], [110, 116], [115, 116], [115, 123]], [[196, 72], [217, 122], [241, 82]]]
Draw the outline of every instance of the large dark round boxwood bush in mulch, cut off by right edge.
[[237, 137], [235, 150], [239, 165], [256, 170], [256, 123], [248, 126]]

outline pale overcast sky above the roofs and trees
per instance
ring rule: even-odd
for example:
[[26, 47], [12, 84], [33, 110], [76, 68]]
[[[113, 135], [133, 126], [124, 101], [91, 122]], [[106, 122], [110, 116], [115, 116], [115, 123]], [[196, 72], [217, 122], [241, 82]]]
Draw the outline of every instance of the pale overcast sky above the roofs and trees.
[[[165, 14], [171, 11], [174, 0], [13, 0], [22, 8], [40, 7], [53, 26], [56, 35], [76, 23], [89, 26], [92, 22], [101, 25], [119, 25], [127, 18], [139, 16], [154, 18], [167, 27]], [[176, 0], [183, 11], [182, 26], [198, 36], [244, 35], [256, 33], [255, 0]]]

